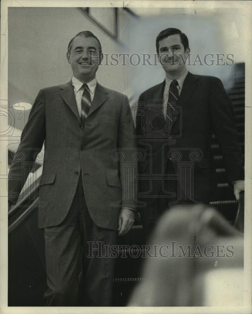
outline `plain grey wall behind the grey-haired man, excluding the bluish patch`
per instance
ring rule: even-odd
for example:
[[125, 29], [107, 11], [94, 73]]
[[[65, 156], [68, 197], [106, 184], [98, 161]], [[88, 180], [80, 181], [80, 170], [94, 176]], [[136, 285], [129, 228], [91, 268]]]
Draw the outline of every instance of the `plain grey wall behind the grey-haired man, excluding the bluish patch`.
[[[100, 15], [100, 23], [103, 23], [103, 18], [106, 19], [105, 14]], [[121, 51], [118, 44], [78, 8], [9, 8], [8, 100], [11, 106], [14, 102], [32, 104], [41, 88], [71, 79], [67, 45], [83, 30], [90, 30], [99, 38], [104, 53]], [[124, 69], [120, 66], [100, 66], [97, 80], [108, 88], [127, 94]], [[29, 110], [24, 114], [25, 121], [28, 115]], [[23, 120], [16, 120], [16, 127], [22, 129]]]

